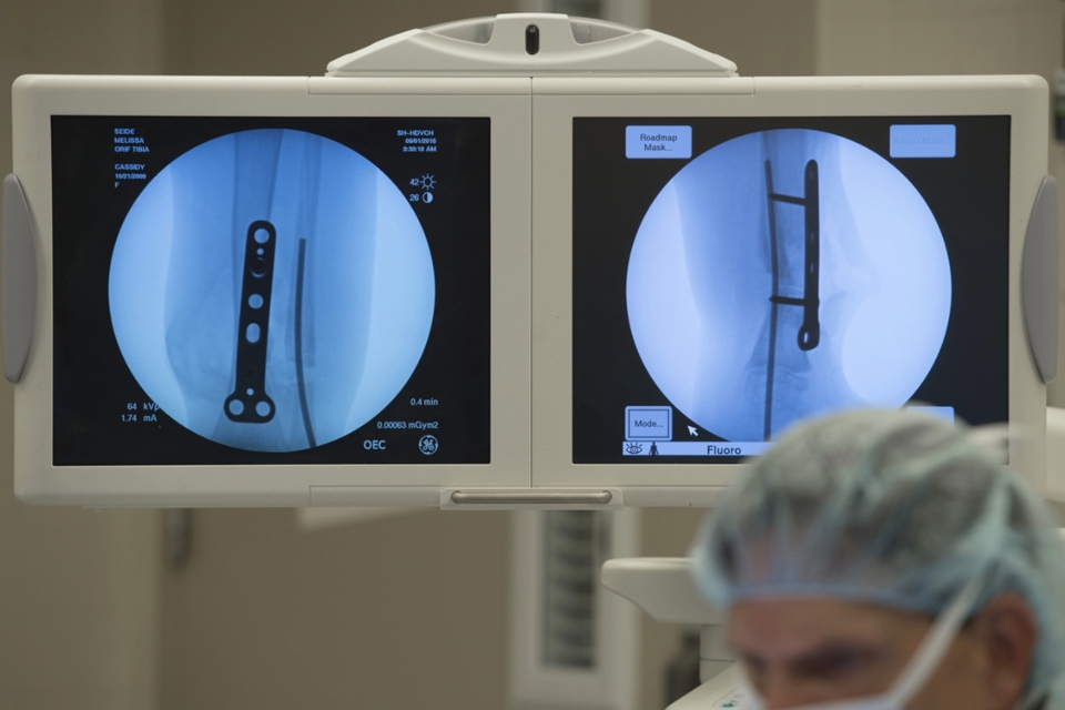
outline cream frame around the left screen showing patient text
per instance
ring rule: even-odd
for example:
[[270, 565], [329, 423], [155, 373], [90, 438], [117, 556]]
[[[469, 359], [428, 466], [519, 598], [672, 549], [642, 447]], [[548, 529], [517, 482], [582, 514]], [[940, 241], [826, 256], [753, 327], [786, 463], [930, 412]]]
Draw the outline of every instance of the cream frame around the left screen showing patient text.
[[[528, 486], [528, 79], [27, 75], [12, 94], [14, 174], [36, 231], [38, 275], [36, 327], [14, 388], [14, 488], [21, 500], [87, 507], [438, 505], [448, 486]], [[52, 115], [490, 119], [490, 463], [53, 466]]]

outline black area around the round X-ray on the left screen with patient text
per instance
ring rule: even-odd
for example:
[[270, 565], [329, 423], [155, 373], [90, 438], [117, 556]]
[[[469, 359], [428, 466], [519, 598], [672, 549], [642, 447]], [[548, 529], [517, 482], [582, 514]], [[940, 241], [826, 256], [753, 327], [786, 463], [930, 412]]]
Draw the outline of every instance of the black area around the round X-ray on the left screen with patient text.
[[[114, 152], [114, 129], [134, 128], [149, 155]], [[361, 153], [405, 194], [433, 174], [436, 200], [413, 204], [428, 241], [436, 305], [422, 359], [399, 394], [366, 425], [316, 448], [251, 452], [199, 436], [160, 412], [123, 422], [150, 402], [111, 328], [108, 278], [126, 212], [163, 168], [214, 138], [285, 128]], [[397, 130], [432, 129], [435, 153], [403, 153]], [[489, 442], [489, 119], [52, 116], [53, 464], [487, 464]], [[143, 162], [146, 180], [115, 185], [115, 163]], [[433, 407], [410, 406], [434, 397]], [[140, 408], [135, 412], [142, 415]], [[382, 430], [378, 420], [438, 422], [436, 430]], [[418, 450], [432, 434], [439, 449]], [[366, 449], [386, 439], [386, 450]]]

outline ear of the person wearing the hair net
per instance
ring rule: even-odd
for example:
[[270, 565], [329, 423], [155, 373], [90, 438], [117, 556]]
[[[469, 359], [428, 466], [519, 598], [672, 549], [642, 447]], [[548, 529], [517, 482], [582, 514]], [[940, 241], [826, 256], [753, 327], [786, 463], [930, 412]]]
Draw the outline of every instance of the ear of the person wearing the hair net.
[[986, 652], [990, 706], [1013, 708], [1027, 684], [1038, 637], [1032, 607], [1021, 595], [1003, 592], [980, 610], [972, 630]]

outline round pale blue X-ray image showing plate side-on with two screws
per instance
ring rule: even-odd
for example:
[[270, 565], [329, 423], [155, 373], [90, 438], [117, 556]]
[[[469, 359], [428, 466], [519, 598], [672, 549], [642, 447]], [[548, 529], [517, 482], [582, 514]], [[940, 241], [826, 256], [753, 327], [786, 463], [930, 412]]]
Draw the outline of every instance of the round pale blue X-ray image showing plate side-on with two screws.
[[940, 353], [951, 294], [940, 226], [911, 182], [807, 129], [732, 139], [680, 170], [643, 217], [626, 281], [655, 384], [737, 442], [905, 404]]

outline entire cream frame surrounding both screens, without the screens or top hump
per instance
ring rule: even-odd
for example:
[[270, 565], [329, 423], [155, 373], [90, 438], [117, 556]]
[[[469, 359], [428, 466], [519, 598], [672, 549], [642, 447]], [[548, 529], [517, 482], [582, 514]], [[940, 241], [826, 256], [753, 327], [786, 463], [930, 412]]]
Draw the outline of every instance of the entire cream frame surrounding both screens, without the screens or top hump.
[[[960, 114], [1011, 116], [1010, 459], [1043, 490], [1046, 388], [1021, 274], [1046, 175], [1047, 111], [1038, 77], [20, 78], [14, 173], [37, 235], [38, 310], [14, 388], [16, 494], [94, 508], [714, 505], [743, 464], [572, 464], [574, 118]], [[72, 114], [491, 119], [491, 463], [52, 466], [50, 116]], [[455, 491], [501, 498], [465, 505]], [[609, 504], [570, 495], [595, 491], [609, 491]]]

